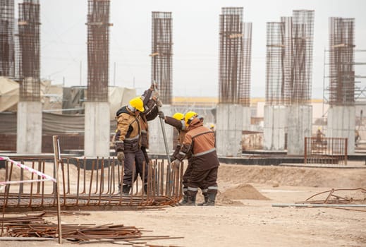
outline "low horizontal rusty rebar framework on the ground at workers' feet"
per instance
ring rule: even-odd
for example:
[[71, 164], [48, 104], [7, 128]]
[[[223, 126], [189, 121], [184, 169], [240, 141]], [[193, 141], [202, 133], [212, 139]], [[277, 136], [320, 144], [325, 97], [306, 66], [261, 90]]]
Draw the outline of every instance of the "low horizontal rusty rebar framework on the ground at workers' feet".
[[[46, 158], [47, 159], [47, 158]], [[35, 161], [37, 159], [34, 157], [22, 157], [23, 162], [31, 162], [32, 167], [35, 167]], [[178, 202], [178, 198], [181, 198], [181, 186], [182, 186], [182, 174], [180, 164], [176, 167], [172, 167], [171, 175], [165, 176], [164, 172], [168, 169], [168, 165], [163, 165], [164, 162], [152, 162], [148, 167], [147, 172], [147, 193], [143, 193], [140, 195], [135, 191], [143, 191], [143, 183], [136, 183], [138, 186], [135, 188], [133, 186], [133, 191], [128, 197], [122, 196], [120, 193], [111, 193], [111, 191], [104, 189], [104, 186], [107, 186], [111, 183], [113, 179], [118, 180], [118, 172], [114, 171], [114, 169], [122, 169], [123, 165], [113, 165], [111, 163], [106, 162], [104, 159], [98, 159], [99, 164], [96, 164], [95, 161], [91, 163], [91, 169], [87, 170], [85, 167], [85, 177], [80, 174], [80, 161], [83, 162], [83, 159], [77, 159], [75, 157], [66, 157], [60, 160], [61, 167], [68, 169], [61, 169], [61, 179], [60, 188], [63, 188], [60, 192], [61, 205], [63, 208], [67, 207], [103, 207], [103, 206], [118, 206], [118, 207], [138, 207], [138, 206], [156, 206], [156, 205], [175, 205]], [[54, 165], [47, 164], [46, 160], [42, 160], [42, 158], [38, 159], [38, 164], [43, 162], [42, 171], [46, 174], [51, 174], [53, 172]], [[86, 163], [85, 163], [86, 164]], [[109, 164], [109, 167], [106, 165]], [[75, 167], [75, 168], [74, 168]], [[101, 171], [97, 172], [96, 167], [99, 167]], [[108, 169], [111, 172], [107, 172]], [[6, 181], [12, 180], [13, 168], [6, 164]], [[17, 171], [18, 172], [18, 171]], [[19, 171], [21, 174], [21, 171]], [[100, 176], [96, 178], [96, 175]], [[115, 178], [110, 177], [111, 174], [117, 176]], [[120, 175], [123, 174], [120, 173]], [[159, 174], [159, 179], [158, 175]], [[103, 176], [103, 178], [102, 178]], [[108, 177], [106, 177], [108, 176]], [[134, 174], [135, 176], [135, 174]], [[24, 174], [22, 179], [28, 180], [31, 178], [31, 175]], [[34, 178], [34, 176], [33, 176]], [[34, 178], [36, 179], [36, 178]], [[140, 177], [138, 177], [140, 179]], [[143, 178], [142, 178], [143, 179]], [[95, 181], [98, 181], [96, 184]], [[168, 183], [166, 183], [168, 181]], [[171, 183], [169, 183], [171, 181]], [[4, 192], [4, 201], [0, 202], [1, 206], [5, 206], [6, 210], [26, 210], [27, 208], [32, 208], [35, 210], [39, 208], [40, 210], [46, 208], [54, 208], [56, 206], [56, 197], [55, 192], [53, 190], [53, 185], [46, 184], [42, 181], [42, 189], [35, 190], [35, 186], [30, 185], [22, 186], [18, 184], [12, 184], [11, 187], [7, 185], [6, 191]], [[87, 183], [89, 185], [80, 186], [80, 183]], [[140, 185], [141, 184], [141, 185]], [[168, 184], [166, 190], [164, 191], [164, 186]], [[159, 190], [158, 190], [159, 185]], [[97, 191], [95, 191], [95, 187], [98, 186]], [[87, 193], [84, 193], [87, 191]], [[0, 193], [1, 196], [1, 193]]]

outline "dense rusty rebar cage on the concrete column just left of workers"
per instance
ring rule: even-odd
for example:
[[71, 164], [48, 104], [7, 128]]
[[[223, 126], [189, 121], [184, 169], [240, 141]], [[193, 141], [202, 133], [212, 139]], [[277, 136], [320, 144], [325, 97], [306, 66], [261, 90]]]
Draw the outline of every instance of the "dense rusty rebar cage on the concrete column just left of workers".
[[89, 0], [87, 13], [87, 101], [108, 102], [109, 0]]

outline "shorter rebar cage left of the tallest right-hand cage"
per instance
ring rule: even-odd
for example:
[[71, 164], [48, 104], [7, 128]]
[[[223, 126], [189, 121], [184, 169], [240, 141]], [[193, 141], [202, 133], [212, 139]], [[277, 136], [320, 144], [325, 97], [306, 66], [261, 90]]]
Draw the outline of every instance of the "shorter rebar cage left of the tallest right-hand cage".
[[266, 104], [285, 102], [285, 23], [267, 23]]

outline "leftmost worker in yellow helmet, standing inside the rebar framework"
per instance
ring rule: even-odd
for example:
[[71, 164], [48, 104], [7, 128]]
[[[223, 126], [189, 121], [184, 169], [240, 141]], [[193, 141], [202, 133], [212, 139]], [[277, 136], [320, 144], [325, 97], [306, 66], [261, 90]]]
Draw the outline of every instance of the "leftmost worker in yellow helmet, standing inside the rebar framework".
[[[147, 169], [142, 174], [145, 156], [141, 150], [141, 118], [140, 112], [144, 112], [144, 106], [141, 97], [135, 97], [130, 100], [125, 107], [118, 109], [116, 113], [117, 131], [115, 146], [117, 159], [124, 160], [125, 168], [122, 181], [122, 194], [129, 195], [130, 188], [135, 178], [132, 177], [133, 165], [135, 164], [136, 174], [140, 174], [147, 187]], [[136, 176], [137, 178], [137, 176]], [[146, 191], [146, 189], [145, 189]]]

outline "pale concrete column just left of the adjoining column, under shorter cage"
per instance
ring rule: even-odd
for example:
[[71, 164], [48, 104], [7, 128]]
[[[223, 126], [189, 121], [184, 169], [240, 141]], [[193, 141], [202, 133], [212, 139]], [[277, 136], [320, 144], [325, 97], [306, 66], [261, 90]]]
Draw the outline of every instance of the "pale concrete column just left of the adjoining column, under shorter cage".
[[287, 131], [287, 107], [264, 106], [264, 150], [284, 150]]

